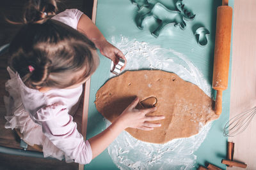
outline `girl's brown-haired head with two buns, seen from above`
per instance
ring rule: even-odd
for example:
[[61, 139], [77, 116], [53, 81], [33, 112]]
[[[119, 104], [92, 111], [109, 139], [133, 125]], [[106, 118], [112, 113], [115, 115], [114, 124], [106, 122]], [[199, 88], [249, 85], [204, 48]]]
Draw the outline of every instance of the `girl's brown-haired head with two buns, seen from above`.
[[33, 89], [70, 87], [88, 78], [99, 64], [92, 41], [50, 19], [56, 9], [52, 0], [29, 1], [25, 24], [10, 44], [12, 69]]

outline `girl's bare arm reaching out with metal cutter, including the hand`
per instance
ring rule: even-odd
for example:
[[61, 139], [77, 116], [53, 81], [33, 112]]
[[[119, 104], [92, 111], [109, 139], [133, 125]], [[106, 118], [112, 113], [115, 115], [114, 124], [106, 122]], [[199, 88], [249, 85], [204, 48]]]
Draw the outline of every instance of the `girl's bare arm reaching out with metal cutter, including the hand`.
[[[111, 43], [104, 38], [96, 25], [93, 24], [92, 20], [90, 20], [90, 18], [84, 14], [79, 19], [77, 31], [83, 32], [83, 34], [85, 34], [91, 41], [93, 41], [93, 43], [95, 43], [96, 47], [99, 48], [100, 53], [113, 60], [115, 64], [118, 64], [119, 58], [124, 59], [126, 64], [124, 54], [118, 50], [118, 48], [111, 45]], [[124, 69], [124, 67], [122, 67], [122, 69]]]

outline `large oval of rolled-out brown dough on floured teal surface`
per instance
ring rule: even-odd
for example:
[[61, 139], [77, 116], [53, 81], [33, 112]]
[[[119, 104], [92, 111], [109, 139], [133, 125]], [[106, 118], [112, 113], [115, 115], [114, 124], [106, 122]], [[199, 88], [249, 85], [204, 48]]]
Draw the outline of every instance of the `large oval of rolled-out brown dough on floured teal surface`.
[[153, 131], [127, 128], [134, 138], [149, 143], [166, 143], [175, 138], [188, 138], [207, 122], [218, 118], [214, 102], [203, 90], [177, 74], [159, 70], [126, 71], [108, 80], [96, 94], [96, 108], [110, 122], [138, 96], [137, 108], [157, 106], [150, 115], [164, 115], [161, 127]]

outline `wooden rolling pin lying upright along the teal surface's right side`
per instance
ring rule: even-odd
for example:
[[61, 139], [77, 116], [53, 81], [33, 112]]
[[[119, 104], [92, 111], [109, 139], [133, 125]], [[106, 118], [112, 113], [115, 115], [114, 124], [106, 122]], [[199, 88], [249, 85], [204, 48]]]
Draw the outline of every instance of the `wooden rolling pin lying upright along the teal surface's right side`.
[[217, 90], [214, 106], [214, 110], [217, 115], [221, 114], [222, 91], [226, 90], [228, 87], [232, 8], [227, 5], [228, 0], [223, 0], [222, 6], [217, 8], [214, 66], [212, 77], [212, 89]]

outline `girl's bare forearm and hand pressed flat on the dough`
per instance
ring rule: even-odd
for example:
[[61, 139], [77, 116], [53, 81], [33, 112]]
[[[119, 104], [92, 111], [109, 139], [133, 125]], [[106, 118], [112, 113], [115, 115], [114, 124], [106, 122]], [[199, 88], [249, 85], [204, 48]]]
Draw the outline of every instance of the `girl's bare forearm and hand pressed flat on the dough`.
[[136, 110], [138, 102], [137, 97], [105, 131], [88, 140], [92, 148], [92, 159], [103, 152], [127, 127], [151, 131], [154, 127], [161, 126], [159, 123], [148, 122], [164, 118], [163, 116], [147, 116], [147, 113], [156, 111], [156, 108]]

